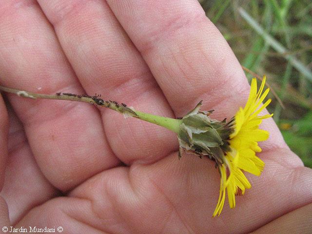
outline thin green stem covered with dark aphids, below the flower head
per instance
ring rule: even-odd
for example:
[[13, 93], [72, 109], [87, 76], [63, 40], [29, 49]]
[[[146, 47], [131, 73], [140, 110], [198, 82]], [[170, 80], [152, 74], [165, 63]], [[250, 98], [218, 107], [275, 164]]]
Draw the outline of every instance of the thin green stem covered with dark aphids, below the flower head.
[[148, 113], [143, 113], [140, 111], [136, 111], [133, 108], [127, 107], [125, 104], [118, 104], [115, 101], [105, 101], [99, 97], [91, 97], [88, 95], [76, 95], [76, 94], [70, 94], [70, 93], [57, 93], [56, 95], [48, 95], [48, 94], [37, 94], [32, 93], [28, 91], [18, 90], [18, 89], [12, 89], [7, 88], [4, 86], [0, 86], [0, 90], [7, 92], [7, 93], [13, 93], [17, 94], [20, 97], [24, 98], [42, 98], [42, 99], [60, 99], [60, 100], [71, 100], [71, 101], [81, 101], [81, 102], [88, 102], [91, 104], [96, 104], [98, 106], [103, 106], [109, 109], [112, 109], [114, 111], [117, 111], [121, 114], [124, 114], [126, 116], [132, 116], [150, 123], [157, 124], [159, 126], [162, 126], [164, 128], [167, 128], [175, 133], [178, 133], [179, 126], [181, 124], [180, 119], [175, 118], [168, 118], [168, 117], [161, 117], [161, 116], [155, 116]]

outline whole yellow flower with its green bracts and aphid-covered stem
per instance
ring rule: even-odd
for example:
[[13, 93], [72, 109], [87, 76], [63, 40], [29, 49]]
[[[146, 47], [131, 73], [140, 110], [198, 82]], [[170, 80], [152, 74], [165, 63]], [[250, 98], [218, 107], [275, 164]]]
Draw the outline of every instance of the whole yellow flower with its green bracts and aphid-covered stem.
[[236, 115], [228, 122], [226, 119], [218, 121], [210, 117], [211, 111], [200, 111], [201, 101], [183, 118], [168, 118], [155, 116], [136, 111], [126, 104], [120, 105], [116, 101], [103, 100], [100, 96], [76, 95], [71, 93], [57, 93], [56, 95], [36, 94], [24, 90], [12, 89], [0, 86], [1, 91], [15, 93], [25, 98], [46, 98], [83, 101], [98, 106], [110, 108], [123, 114], [125, 117], [135, 117], [163, 126], [177, 134], [179, 141], [179, 158], [182, 151], [207, 156], [215, 161], [220, 179], [220, 195], [213, 216], [220, 215], [226, 193], [229, 205], [235, 207], [235, 195], [243, 195], [245, 189], [251, 188], [251, 184], [242, 171], [260, 176], [264, 162], [255, 154], [261, 152], [258, 141], [268, 139], [269, 132], [259, 129], [262, 119], [271, 115], [259, 116], [259, 113], [267, 107], [271, 99], [261, 103], [268, 95], [269, 89], [263, 92], [266, 78], [263, 77], [261, 86], [257, 91], [256, 79], [252, 80], [251, 91], [244, 108], [240, 108]]

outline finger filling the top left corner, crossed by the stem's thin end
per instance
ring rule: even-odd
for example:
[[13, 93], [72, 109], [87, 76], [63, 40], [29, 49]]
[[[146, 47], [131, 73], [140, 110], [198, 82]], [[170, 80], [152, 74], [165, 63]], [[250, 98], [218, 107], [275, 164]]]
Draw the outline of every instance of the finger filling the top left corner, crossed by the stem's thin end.
[[[84, 93], [36, 1], [1, 1], [0, 20], [2, 85]], [[69, 189], [119, 162], [93, 106], [9, 97], [40, 170], [56, 187]]]

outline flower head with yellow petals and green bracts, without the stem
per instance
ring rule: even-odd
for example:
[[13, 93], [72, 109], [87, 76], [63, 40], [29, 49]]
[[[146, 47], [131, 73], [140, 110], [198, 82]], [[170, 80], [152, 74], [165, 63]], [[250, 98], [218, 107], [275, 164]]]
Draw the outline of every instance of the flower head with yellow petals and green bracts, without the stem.
[[209, 156], [215, 160], [221, 176], [220, 195], [213, 216], [220, 215], [226, 193], [230, 208], [234, 208], [235, 195], [244, 195], [245, 189], [251, 188], [242, 171], [260, 176], [264, 168], [264, 162], [255, 154], [261, 152], [257, 142], [269, 138], [269, 132], [259, 129], [259, 125], [262, 119], [273, 116], [259, 116], [271, 102], [269, 99], [260, 107], [269, 93], [269, 88], [263, 92], [265, 80], [263, 77], [258, 91], [256, 79], [252, 80], [245, 107], [240, 108], [229, 122], [211, 119], [211, 111], [199, 111], [201, 102], [182, 118], [178, 134], [179, 156], [182, 149], [200, 157]]

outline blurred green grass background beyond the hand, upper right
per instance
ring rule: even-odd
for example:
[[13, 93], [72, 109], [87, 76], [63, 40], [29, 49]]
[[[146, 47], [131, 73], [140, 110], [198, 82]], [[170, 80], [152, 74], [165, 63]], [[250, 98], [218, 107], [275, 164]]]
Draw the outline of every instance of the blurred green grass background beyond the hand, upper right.
[[271, 92], [268, 109], [292, 151], [312, 168], [312, 1], [199, 2], [241, 65], [267, 76], [284, 105]]

